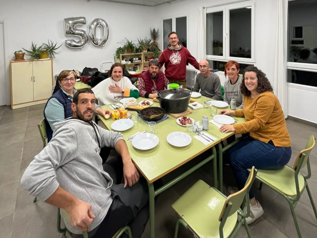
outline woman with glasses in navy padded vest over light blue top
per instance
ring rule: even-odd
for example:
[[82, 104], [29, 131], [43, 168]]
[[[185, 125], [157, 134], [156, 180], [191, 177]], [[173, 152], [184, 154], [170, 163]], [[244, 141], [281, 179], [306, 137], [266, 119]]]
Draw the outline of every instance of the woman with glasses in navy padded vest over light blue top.
[[[53, 124], [73, 115], [70, 105], [73, 102], [75, 92], [77, 92], [77, 90], [74, 89], [76, 83], [76, 74], [74, 70], [61, 71], [57, 82], [60, 89], [49, 98], [44, 108], [48, 142], [51, 140], [55, 129]], [[105, 116], [106, 114], [110, 116], [109, 110], [102, 110], [97, 104], [95, 104], [95, 112], [102, 116]]]

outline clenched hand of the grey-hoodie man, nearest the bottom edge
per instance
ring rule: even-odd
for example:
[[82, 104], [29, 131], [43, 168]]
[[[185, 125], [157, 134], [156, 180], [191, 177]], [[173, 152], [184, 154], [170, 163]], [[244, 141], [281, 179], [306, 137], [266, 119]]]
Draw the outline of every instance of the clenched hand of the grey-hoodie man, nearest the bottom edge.
[[90, 224], [95, 218], [91, 204], [79, 199], [69, 210], [68, 215], [70, 224], [81, 231], [89, 231]]

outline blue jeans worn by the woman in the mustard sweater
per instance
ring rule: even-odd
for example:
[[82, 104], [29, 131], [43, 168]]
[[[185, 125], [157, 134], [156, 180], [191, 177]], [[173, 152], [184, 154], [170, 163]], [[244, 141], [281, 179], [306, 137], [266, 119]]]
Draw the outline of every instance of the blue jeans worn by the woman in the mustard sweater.
[[[291, 147], [277, 147], [250, 137], [236, 143], [226, 151], [239, 189], [244, 187], [248, 179], [247, 169], [252, 166], [256, 169], [280, 169], [288, 163], [291, 154]], [[249, 198], [254, 198], [252, 188], [249, 191]]]

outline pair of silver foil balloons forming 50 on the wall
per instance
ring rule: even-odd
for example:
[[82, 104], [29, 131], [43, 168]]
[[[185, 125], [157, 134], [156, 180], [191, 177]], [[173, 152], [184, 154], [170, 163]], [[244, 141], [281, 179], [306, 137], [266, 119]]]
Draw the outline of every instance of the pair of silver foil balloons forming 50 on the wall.
[[[90, 38], [95, 46], [104, 46], [109, 36], [108, 24], [105, 20], [96, 18], [89, 25], [89, 36], [85, 30], [76, 28], [78, 24], [86, 24], [86, 17], [68, 17], [64, 18], [64, 31], [66, 36], [77, 36], [79, 40], [66, 40], [65, 45], [71, 48], [83, 48]], [[97, 27], [102, 28], [102, 36], [100, 39], [96, 37]]]

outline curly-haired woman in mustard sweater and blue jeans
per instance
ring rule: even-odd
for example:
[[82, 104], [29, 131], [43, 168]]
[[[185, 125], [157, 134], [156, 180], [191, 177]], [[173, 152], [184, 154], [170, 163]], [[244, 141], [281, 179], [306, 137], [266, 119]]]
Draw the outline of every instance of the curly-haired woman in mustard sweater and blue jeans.
[[[266, 75], [255, 66], [248, 66], [243, 73], [241, 92], [244, 99], [242, 110], [220, 112], [224, 115], [245, 117], [247, 121], [223, 125], [220, 127], [221, 132], [250, 133], [226, 152], [239, 189], [244, 187], [248, 179], [248, 168], [255, 166], [256, 169], [280, 169], [288, 163], [292, 154], [281, 104], [273, 94]], [[246, 219], [248, 224], [263, 214], [252, 188], [249, 198], [251, 213]]]

